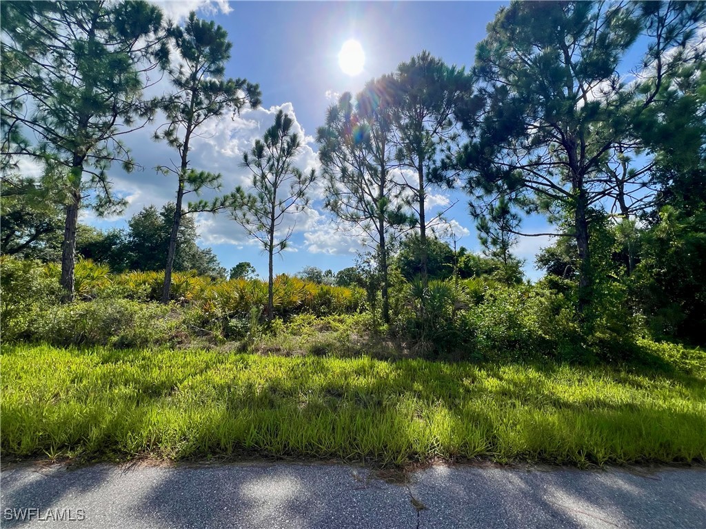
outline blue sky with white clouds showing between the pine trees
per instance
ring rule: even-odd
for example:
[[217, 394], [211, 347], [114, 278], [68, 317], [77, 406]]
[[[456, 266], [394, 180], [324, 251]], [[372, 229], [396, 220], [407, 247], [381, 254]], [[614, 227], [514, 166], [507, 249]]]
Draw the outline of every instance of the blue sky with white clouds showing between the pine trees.
[[[262, 90], [261, 108], [246, 109], [234, 117], [205, 124], [201, 137], [193, 142], [190, 160], [193, 168], [220, 172], [222, 191], [234, 186], [247, 188], [250, 175], [240, 167], [242, 155], [256, 138], [273, 123], [283, 109], [294, 117], [294, 130], [304, 138], [297, 165], [306, 170], [318, 168], [316, 128], [323, 124], [326, 109], [345, 91], [356, 93], [366, 81], [391, 73], [402, 61], [426, 49], [447, 64], [472, 66], [477, 42], [486, 25], [503, 5], [498, 2], [231, 2], [159, 1], [167, 15], [184, 20], [189, 11], [215, 20], [227, 30], [232, 59], [226, 76], [247, 78]], [[342, 44], [355, 39], [364, 50], [366, 61], [358, 75], [344, 73], [338, 53]], [[167, 89], [164, 84], [164, 89]], [[162, 90], [158, 84], [153, 90]], [[177, 160], [177, 154], [164, 143], [152, 141], [155, 123], [126, 136], [126, 144], [143, 170], [126, 174], [113, 167], [109, 174], [118, 194], [129, 202], [124, 213], [114, 218], [97, 218], [84, 213], [84, 222], [107, 229], [125, 227], [126, 219], [144, 206], [161, 207], [174, 201], [177, 182], [155, 170]], [[213, 194], [205, 194], [205, 198]], [[275, 260], [275, 273], [296, 273], [305, 266], [339, 271], [352, 266], [356, 252], [364, 249], [359, 237], [323, 210], [323, 185], [312, 192], [311, 210], [290, 218], [294, 232], [287, 251]], [[452, 221], [457, 244], [481, 251], [473, 221], [468, 213], [468, 197], [460, 191], [432, 192], [431, 214], [455, 204], [445, 216]], [[199, 244], [210, 246], [225, 268], [249, 261], [260, 275], [267, 271], [267, 256], [256, 241], [227, 213], [199, 215]], [[547, 232], [541, 218], [528, 218], [525, 232]], [[525, 273], [537, 278], [534, 254], [540, 246], [551, 244], [548, 237], [524, 237], [515, 254], [526, 259]]]

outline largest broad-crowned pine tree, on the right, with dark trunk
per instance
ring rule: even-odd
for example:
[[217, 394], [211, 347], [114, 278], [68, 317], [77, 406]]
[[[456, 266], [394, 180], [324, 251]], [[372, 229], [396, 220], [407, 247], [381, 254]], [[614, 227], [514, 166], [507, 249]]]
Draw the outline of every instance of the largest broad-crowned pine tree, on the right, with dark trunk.
[[[498, 12], [477, 47], [483, 101], [459, 112], [470, 141], [455, 160], [469, 172], [473, 208], [506, 196], [527, 213], [570, 212], [565, 233], [576, 242], [581, 317], [596, 302], [590, 239], [593, 221], [602, 220], [592, 210], [612, 206], [628, 217], [651, 198], [643, 154], [669, 145], [669, 135], [645, 131], [673, 125], [664, 108], [678, 100], [676, 87], [684, 95], [685, 71], [703, 64], [691, 37], [704, 12], [701, 2], [517, 1]], [[644, 50], [645, 75], [626, 83], [621, 62], [633, 44]]]

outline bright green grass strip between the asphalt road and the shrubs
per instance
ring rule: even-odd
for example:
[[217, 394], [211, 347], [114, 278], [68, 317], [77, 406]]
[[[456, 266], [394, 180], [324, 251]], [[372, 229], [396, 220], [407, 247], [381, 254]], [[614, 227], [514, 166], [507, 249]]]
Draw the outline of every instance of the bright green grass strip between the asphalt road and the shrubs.
[[1, 450], [381, 465], [703, 461], [704, 355], [663, 349], [653, 347], [658, 371], [4, 346]]

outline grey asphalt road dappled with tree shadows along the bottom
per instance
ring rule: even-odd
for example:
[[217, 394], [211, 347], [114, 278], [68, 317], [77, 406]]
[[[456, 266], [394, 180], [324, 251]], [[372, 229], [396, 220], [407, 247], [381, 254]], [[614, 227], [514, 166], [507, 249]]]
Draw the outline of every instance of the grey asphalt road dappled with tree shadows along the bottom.
[[0, 501], [3, 528], [691, 529], [706, 527], [706, 468], [10, 465]]

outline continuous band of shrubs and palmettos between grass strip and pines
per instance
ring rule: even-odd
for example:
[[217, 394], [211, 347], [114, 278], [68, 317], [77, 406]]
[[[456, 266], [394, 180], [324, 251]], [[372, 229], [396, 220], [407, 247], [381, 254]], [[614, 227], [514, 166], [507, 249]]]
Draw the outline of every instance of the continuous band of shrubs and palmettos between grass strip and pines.
[[[452, 354], [491, 359], [554, 357], [623, 362], [647, 355], [636, 345], [644, 333], [633, 316], [626, 287], [606, 280], [594, 288], [583, 319], [575, 308], [576, 285], [546, 278], [537, 285], [507, 286], [490, 278], [407, 283], [390, 269], [390, 325], [381, 325], [380, 292], [333, 287], [288, 275], [275, 278], [274, 322], [265, 325], [267, 284], [261, 280], [211, 280], [174, 274], [170, 307], [156, 304], [163, 273], [110, 274], [79, 261], [79, 300], [59, 305], [59, 267], [2, 258], [0, 324], [4, 340], [46, 340], [56, 345], [157, 345], [178, 336], [216, 343], [262, 335], [346, 340], [372, 334], [394, 338], [416, 355]], [[332, 332], [333, 331], [333, 332]], [[362, 331], [362, 332], [361, 332]]]

